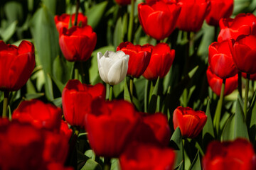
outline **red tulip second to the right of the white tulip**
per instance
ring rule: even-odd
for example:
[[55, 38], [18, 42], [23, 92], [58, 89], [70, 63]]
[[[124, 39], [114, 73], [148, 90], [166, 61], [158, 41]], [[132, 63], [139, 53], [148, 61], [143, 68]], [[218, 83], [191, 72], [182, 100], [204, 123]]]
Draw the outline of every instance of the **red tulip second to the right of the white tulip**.
[[168, 44], [159, 43], [156, 46], [144, 45], [152, 48], [149, 66], [146, 68], [143, 77], [146, 79], [164, 78], [174, 62], [175, 50], [171, 50]]

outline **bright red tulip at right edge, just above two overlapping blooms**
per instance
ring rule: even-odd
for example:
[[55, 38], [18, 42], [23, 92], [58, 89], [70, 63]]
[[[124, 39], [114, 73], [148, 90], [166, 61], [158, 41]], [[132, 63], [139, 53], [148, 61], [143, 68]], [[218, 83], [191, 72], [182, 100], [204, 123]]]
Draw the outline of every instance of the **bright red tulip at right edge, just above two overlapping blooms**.
[[235, 18], [220, 19], [220, 33], [218, 42], [233, 38], [236, 40], [239, 35], [255, 34], [256, 16], [252, 13], [240, 13]]

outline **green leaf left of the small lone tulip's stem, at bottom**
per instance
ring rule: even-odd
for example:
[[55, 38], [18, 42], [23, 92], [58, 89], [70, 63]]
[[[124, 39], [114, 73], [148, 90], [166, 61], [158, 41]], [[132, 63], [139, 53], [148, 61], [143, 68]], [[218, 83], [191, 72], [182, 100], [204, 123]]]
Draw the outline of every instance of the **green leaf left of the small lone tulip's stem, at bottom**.
[[[179, 164], [181, 164], [181, 162], [183, 162], [183, 142], [182, 142], [182, 136], [181, 136], [181, 130], [180, 128], [176, 128], [176, 130], [174, 131], [174, 134], [171, 136], [171, 142], [173, 142], [173, 144], [175, 144], [175, 147], [178, 147], [175, 152], [176, 152], [176, 163], [175, 163], [175, 167], [178, 166]], [[175, 148], [174, 148], [175, 149]], [[183, 164], [181, 164], [181, 166], [184, 166]]]

